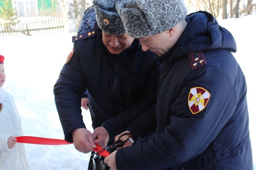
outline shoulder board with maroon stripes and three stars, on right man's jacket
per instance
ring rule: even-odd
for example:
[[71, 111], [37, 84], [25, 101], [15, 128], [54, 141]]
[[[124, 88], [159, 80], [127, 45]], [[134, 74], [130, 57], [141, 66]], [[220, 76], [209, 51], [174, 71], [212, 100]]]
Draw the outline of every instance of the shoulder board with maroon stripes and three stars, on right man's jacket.
[[188, 54], [188, 57], [192, 70], [196, 70], [206, 65], [203, 51], [192, 52], [191, 54]]

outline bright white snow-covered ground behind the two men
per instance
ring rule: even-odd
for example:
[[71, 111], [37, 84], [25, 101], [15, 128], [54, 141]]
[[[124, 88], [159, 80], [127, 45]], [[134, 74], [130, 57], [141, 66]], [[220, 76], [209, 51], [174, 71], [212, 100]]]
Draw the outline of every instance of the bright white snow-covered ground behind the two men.
[[[256, 162], [255, 108], [256, 91], [256, 14], [238, 19], [218, 20], [235, 37], [234, 54], [247, 79], [250, 114], [250, 138]], [[76, 33], [40, 36], [0, 37], [0, 54], [5, 56], [6, 83], [3, 88], [15, 99], [25, 136], [64, 139], [56, 111], [53, 85], [73, 48]], [[253, 76], [254, 75], [254, 76]], [[90, 113], [83, 110], [84, 122], [92, 130]], [[25, 144], [31, 170], [86, 170], [90, 153], [69, 145]], [[256, 166], [254, 165], [256, 170]]]

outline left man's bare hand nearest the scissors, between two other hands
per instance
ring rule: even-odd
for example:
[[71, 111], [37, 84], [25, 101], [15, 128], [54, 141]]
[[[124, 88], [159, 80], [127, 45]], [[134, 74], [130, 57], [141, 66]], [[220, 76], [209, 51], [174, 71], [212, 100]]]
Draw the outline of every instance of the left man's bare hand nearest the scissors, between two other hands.
[[99, 144], [101, 147], [106, 147], [109, 140], [108, 131], [103, 127], [97, 127], [93, 131], [93, 139], [94, 142]]

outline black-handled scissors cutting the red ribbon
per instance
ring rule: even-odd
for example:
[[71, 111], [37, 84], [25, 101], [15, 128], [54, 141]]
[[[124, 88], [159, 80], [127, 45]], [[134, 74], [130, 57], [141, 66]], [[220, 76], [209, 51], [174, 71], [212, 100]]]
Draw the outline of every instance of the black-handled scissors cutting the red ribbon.
[[122, 147], [123, 144], [125, 144], [125, 142], [131, 142], [131, 143], [134, 143], [134, 140], [129, 137], [128, 139], [126, 139], [125, 141], [121, 141], [121, 138], [122, 136], [125, 136], [125, 135], [129, 135], [129, 136], [132, 136], [131, 133], [127, 132], [127, 133], [123, 133], [122, 135], [119, 136], [119, 138], [116, 140], [116, 142], [114, 142], [113, 144], [109, 145], [109, 146], [106, 146], [104, 148], [102, 148], [101, 150], [98, 150], [97, 152], [91, 154], [91, 156], [95, 155], [95, 154], [98, 154], [97, 156], [94, 156], [92, 159], [95, 159], [97, 157], [100, 156], [99, 153], [103, 152], [103, 151], [110, 151], [111, 149], [113, 148], [118, 148], [118, 147]]

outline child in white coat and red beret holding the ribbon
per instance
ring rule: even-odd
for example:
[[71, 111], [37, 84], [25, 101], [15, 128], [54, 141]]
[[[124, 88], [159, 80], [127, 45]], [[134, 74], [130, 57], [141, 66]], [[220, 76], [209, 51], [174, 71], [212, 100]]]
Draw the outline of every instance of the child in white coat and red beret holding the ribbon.
[[4, 57], [0, 55], [0, 170], [29, 170], [25, 147], [15, 136], [23, 136], [20, 116], [12, 95], [3, 88]]

